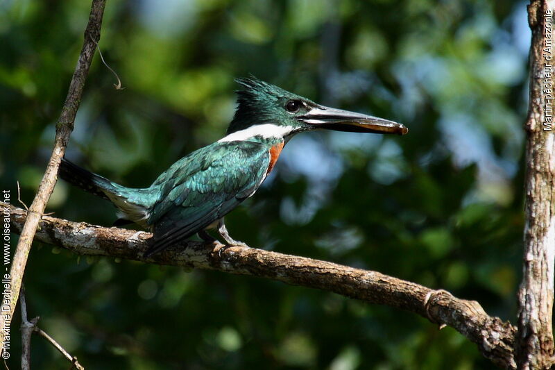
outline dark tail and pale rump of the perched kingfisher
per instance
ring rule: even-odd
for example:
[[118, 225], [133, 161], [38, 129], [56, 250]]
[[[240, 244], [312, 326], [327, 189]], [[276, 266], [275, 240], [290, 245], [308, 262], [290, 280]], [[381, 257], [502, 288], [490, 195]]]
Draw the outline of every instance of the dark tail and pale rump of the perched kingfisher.
[[120, 219], [130, 220], [144, 227], [148, 226], [147, 221], [150, 216], [148, 210], [153, 203], [150, 189], [132, 189], [119, 185], [65, 158], [62, 158], [58, 175], [71, 185], [114, 203], [121, 211], [118, 212]]

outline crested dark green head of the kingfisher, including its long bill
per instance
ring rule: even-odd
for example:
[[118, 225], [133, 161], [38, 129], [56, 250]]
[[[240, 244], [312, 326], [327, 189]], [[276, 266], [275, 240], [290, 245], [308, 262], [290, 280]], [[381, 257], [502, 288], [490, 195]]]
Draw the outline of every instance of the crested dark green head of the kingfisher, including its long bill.
[[237, 78], [237, 110], [228, 135], [251, 126], [271, 124], [284, 128], [284, 136], [325, 128], [359, 133], [393, 133], [409, 130], [394, 121], [321, 106], [307, 98], [256, 78]]

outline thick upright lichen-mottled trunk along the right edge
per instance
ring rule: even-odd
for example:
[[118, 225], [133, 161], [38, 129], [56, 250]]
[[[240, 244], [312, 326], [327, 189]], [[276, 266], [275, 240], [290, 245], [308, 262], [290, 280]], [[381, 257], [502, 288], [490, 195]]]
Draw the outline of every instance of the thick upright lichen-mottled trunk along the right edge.
[[518, 369], [545, 369], [553, 355], [553, 290], [555, 274], [555, 55], [552, 30], [555, 4], [532, 0], [530, 101], [525, 130], [526, 201], [524, 269], [518, 292]]

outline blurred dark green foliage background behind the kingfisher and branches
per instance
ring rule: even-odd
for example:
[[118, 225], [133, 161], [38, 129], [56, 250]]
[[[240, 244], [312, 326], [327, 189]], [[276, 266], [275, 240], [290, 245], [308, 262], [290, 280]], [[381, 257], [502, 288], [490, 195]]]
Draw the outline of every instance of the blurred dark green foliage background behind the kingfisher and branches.
[[[89, 1], [0, 4], [0, 174], [31, 202]], [[529, 31], [499, 1], [109, 0], [67, 157], [150, 185], [223, 135], [233, 78], [397, 119], [405, 137], [291, 140], [228, 217], [252, 246], [448, 289], [515, 317]], [[16, 199], [13, 196], [12, 199]], [[109, 226], [112, 206], [58, 183], [56, 216]], [[12, 244], [15, 248], [15, 242]], [[78, 258], [35, 243], [30, 316], [87, 369], [490, 369], [474, 344], [408, 312], [259, 278]], [[19, 321], [12, 324], [19, 367]], [[33, 339], [33, 367], [65, 360]], [[456, 362], [455, 360], [456, 359]]]

